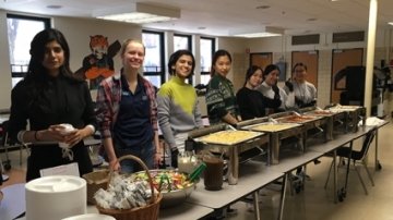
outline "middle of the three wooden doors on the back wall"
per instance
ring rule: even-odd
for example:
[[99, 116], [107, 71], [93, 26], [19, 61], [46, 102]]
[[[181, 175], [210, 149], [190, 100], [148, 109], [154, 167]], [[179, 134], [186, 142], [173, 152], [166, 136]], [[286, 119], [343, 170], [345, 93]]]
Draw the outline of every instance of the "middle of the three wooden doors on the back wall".
[[293, 51], [291, 52], [291, 69], [290, 73], [293, 74], [293, 69], [296, 63], [303, 63], [307, 65], [307, 81], [312, 83], [318, 90], [318, 50], [309, 51]]

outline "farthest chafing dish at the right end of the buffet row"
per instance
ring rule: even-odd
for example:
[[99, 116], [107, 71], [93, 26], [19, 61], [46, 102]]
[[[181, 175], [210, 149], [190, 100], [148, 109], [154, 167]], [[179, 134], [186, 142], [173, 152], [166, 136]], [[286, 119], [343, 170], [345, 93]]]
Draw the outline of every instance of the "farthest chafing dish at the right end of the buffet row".
[[357, 132], [360, 120], [362, 120], [362, 124], [366, 124], [366, 107], [335, 105], [333, 107], [326, 108], [326, 110], [332, 112], [345, 112], [345, 125], [347, 132]]

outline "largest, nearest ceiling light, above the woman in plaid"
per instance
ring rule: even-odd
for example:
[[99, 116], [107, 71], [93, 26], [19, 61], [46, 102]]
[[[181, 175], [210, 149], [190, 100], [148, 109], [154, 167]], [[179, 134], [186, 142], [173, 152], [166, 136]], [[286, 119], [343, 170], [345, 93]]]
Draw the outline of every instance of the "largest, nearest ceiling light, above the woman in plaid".
[[95, 11], [93, 16], [103, 20], [144, 24], [179, 19], [180, 10], [136, 2]]

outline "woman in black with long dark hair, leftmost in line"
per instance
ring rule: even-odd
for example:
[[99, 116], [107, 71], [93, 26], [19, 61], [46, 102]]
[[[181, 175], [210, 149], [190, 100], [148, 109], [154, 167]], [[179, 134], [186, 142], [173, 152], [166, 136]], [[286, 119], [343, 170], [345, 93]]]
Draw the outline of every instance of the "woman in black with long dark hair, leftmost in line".
[[[33, 38], [29, 52], [26, 77], [12, 89], [9, 124], [11, 138], [32, 143], [26, 181], [39, 178], [41, 169], [72, 162], [78, 162], [81, 175], [92, 172], [83, 138], [95, 132], [93, 102], [86, 82], [70, 70], [64, 36], [45, 29]], [[64, 133], [64, 123], [74, 129]], [[68, 147], [60, 148], [59, 143]]]

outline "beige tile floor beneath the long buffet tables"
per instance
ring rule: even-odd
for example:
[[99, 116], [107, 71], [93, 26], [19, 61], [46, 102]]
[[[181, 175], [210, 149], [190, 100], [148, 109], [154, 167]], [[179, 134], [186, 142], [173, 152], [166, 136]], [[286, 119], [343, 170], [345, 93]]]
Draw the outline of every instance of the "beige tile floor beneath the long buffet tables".
[[[306, 182], [305, 191], [290, 195], [287, 193], [284, 220], [393, 220], [393, 125], [388, 124], [379, 132], [379, 160], [382, 164], [380, 171], [374, 171], [373, 155], [374, 145], [369, 151], [369, 167], [374, 179], [376, 186], [371, 186], [364, 170], [361, 174], [369, 191], [365, 195], [356, 172], [350, 172], [347, 197], [343, 203], [333, 203], [332, 184], [327, 190], [323, 188], [331, 158], [321, 158], [320, 164], [310, 163], [307, 173], [311, 180]], [[358, 143], [359, 144], [359, 143]], [[25, 151], [23, 152], [26, 156]], [[1, 159], [4, 155], [0, 155]], [[26, 161], [22, 167], [19, 164], [19, 151], [11, 154], [12, 170], [10, 180], [4, 185], [24, 181]], [[344, 169], [338, 173], [338, 186], [344, 184]], [[0, 186], [0, 187], [3, 187]], [[262, 195], [263, 194], [263, 195]], [[266, 220], [277, 218], [279, 192], [273, 188], [261, 191], [261, 217]], [[249, 211], [248, 206], [238, 201], [233, 205], [238, 210], [237, 215], [227, 217], [229, 220], [253, 219], [254, 213]]]

